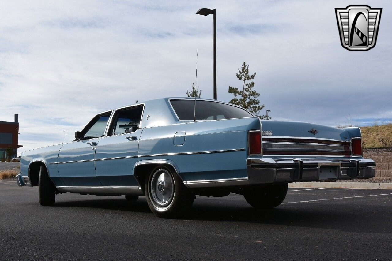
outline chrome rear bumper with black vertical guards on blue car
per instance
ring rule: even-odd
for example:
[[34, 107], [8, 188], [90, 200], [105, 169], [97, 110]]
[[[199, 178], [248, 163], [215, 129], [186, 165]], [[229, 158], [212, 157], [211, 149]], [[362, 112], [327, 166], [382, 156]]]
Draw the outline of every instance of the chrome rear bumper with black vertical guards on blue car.
[[374, 178], [372, 159], [247, 159], [249, 184]]

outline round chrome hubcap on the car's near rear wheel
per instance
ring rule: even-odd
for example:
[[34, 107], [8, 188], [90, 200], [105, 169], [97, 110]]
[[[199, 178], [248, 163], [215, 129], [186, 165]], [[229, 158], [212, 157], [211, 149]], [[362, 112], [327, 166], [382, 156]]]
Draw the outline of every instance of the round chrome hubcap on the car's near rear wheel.
[[171, 203], [174, 194], [174, 180], [167, 170], [158, 169], [151, 178], [151, 198], [158, 207]]

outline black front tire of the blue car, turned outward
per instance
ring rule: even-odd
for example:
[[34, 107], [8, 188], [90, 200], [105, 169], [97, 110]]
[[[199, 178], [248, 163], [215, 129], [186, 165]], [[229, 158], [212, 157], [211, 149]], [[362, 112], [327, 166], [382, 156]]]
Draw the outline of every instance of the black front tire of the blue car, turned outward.
[[38, 176], [38, 199], [40, 205], [51, 206], [54, 204], [54, 193], [56, 188], [52, 180], [49, 178], [48, 172], [44, 166], [40, 167]]

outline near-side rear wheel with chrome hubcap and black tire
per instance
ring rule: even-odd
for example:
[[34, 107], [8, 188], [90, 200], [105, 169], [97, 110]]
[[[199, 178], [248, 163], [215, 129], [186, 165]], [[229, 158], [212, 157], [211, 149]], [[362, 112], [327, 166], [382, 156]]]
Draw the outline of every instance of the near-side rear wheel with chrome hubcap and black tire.
[[151, 211], [158, 217], [176, 218], [192, 207], [194, 194], [170, 168], [156, 167], [146, 177], [144, 191]]

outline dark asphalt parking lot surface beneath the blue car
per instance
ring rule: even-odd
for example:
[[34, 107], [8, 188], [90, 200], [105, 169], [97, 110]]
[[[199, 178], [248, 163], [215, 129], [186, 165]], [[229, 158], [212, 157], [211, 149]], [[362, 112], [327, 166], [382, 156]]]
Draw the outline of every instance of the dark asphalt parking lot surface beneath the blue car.
[[0, 181], [2, 260], [391, 260], [392, 190], [290, 188], [258, 211], [242, 196], [197, 197], [187, 219], [145, 199], [56, 196]]

